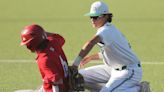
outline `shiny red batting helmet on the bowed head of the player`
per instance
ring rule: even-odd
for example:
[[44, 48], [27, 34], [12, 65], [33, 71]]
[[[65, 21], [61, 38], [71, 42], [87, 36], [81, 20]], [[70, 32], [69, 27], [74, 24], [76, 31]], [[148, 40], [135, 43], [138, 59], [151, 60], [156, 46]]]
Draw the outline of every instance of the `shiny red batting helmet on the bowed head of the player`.
[[31, 51], [35, 51], [38, 45], [47, 38], [44, 29], [36, 24], [26, 26], [21, 32], [21, 45], [26, 45]]

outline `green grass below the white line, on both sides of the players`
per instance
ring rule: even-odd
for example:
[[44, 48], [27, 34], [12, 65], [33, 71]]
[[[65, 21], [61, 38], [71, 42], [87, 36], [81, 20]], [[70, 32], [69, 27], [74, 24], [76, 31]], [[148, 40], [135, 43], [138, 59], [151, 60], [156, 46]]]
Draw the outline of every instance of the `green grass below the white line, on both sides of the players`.
[[[93, 65], [93, 64], [90, 64]], [[143, 64], [143, 80], [148, 80], [152, 92], [162, 92], [163, 65]], [[41, 77], [35, 62], [0, 62], [0, 92], [33, 89], [41, 85]]]

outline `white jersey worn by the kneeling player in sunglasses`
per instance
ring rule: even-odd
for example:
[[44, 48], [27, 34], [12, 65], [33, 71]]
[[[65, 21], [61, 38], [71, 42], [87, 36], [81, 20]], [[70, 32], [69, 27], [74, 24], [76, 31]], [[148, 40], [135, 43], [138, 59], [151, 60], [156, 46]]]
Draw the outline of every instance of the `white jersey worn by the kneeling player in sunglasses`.
[[99, 28], [96, 35], [101, 38], [98, 45], [101, 47], [105, 64], [115, 68], [140, 63], [124, 35], [111, 23]]

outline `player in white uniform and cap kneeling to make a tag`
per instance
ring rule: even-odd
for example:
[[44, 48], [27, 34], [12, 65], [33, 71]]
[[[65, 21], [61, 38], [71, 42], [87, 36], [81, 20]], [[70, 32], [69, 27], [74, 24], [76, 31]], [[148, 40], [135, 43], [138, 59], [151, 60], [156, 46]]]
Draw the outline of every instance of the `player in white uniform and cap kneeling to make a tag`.
[[[85, 87], [91, 92], [139, 92], [142, 79], [140, 60], [133, 53], [125, 36], [111, 23], [108, 6], [97, 1], [91, 5], [90, 16], [97, 33], [81, 49], [73, 67], [103, 59], [103, 65], [81, 69]], [[86, 56], [98, 45], [100, 52]]]

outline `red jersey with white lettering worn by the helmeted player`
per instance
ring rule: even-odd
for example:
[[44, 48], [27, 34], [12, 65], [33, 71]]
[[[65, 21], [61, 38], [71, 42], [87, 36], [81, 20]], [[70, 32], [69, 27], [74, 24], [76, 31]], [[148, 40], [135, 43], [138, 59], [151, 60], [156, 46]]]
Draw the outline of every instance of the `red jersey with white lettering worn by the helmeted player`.
[[[37, 64], [42, 76], [45, 92], [53, 92], [52, 85], [59, 87], [59, 92], [68, 92], [68, 63], [62, 46], [63, 37], [53, 34], [48, 37], [48, 46], [37, 52]], [[63, 83], [56, 84], [59, 80]]]

